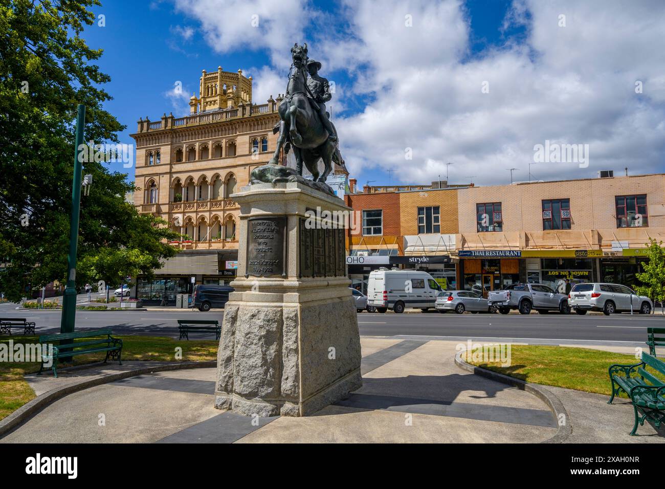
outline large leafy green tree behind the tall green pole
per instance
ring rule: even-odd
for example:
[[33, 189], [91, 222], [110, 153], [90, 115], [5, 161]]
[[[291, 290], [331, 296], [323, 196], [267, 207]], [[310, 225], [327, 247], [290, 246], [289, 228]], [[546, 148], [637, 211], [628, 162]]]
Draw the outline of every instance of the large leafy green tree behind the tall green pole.
[[[65, 281], [76, 104], [86, 106], [85, 141], [118, 142], [124, 129], [104, 110], [111, 96], [101, 86], [110, 78], [94, 65], [102, 50], [81, 37], [95, 21], [92, 5], [100, 3], [0, 0], [0, 290], [13, 301], [30, 286]], [[81, 199], [78, 253], [86, 267], [78, 285], [113, 267], [112, 250], [132, 257], [125, 266], [141, 273], [176, 254], [168, 240], [178, 234], [125, 202], [135, 190], [126, 174], [94, 161], [83, 172], [93, 184]]]

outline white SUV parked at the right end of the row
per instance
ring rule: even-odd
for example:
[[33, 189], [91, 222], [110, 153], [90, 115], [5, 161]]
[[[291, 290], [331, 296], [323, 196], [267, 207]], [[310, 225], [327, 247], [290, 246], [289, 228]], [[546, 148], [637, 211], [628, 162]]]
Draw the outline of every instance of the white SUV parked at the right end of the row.
[[568, 303], [579, 315], [602, 311], [605, 315], [632, 310], [650, 314], [654, 305], [648, 297], [618, 283], [577, 283], [568, 295]]

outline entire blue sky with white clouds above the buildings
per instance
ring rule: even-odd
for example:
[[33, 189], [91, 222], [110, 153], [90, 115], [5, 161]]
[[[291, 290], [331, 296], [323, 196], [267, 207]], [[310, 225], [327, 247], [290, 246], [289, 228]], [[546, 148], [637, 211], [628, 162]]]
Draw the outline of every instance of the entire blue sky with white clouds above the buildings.
[[[532, 165], [543, 180], [664, 168], [665, 17], [656, 1], [630, 11], [572, 0], [102, 3], [94, 12], [105, 26], [84, 37], [104, 49], [99, 65], [114, 97], [106, 108], [127, 125], [122, 142], [133, 142], [139, 117], [184, 115], [201, 69], [243, 69], [254, 102], [265, 102], [285, 89], [289, 46], [307, 42], [336, 84], [333, 118], [359, 183], [427, 183], [445, 178], [446, 162], [451, 183], [505, 184], [507, 168], [527, 180], [545, 140], [588, 144], [591, 156], [587, 166]], [[186, 96], [172, 93], [178, 81]]]

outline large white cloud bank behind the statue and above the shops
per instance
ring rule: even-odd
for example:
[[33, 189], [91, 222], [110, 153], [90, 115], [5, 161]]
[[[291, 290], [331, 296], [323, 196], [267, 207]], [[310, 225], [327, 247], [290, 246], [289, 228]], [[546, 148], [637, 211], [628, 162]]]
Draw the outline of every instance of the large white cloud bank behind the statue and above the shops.
[[[536, 164], [540, 179], [582, 178], [598, 170], [662, 171], [665, 149], [665, 8], [660, 1], [556, 3], [515, 0], [503, 23], [525, 25], [526, 41], [469, 61], [469, 18], [462, 0], [346, 0], [341, 19], [305, 0], [175, 0], [201, 23], [219, 53], [270, 53], [253, 72], [255, 100], [284, 91], [293, 40], [311, 32], [325, 73], [346, 69], [346, 94], [368, 94], [364, 109], [336, 118], [352, 174], [399, 168], [394, 180], [422, 183], [446, 174], [452, 183], [506, 183], [506, 168], [526, 180], [533, 146], [545, 140], [589, 144], [589, 168]], [[232, 19], [229, 12], [233, 12]], [[528, 15], [527, 15], [528, 14]], [[559, 15], [566, 27], [559, 27]], [[251, 27], [258, 15], [259, 27]], [[412, 27], [407, 27], [410, 15]], [[325, 29], [324, 27], [331, 28]], [[481, 92], [489, 82], [489, 93]], [[644, 92], [635, 92], [641, 81]], [[405, 160], [412, 148], [413, 160]]]

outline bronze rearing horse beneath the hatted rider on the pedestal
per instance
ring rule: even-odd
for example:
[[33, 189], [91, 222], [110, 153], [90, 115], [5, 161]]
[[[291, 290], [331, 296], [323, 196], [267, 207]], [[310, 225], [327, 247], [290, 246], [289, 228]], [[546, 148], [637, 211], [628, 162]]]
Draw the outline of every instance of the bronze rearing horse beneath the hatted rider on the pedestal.
[[[269, 164], [277, 164], [279, 152], [282, 148], [288, 152], [293, 148], [298, 175], [303, 174], [303, 162], [313, 176], [315, 182], [325, 182], [332, 171], [332, 162], [343, 166], [343, 161], [337, 149], [336, 142], [329, 139], [329, 132], [325, 129], [321, 116], [312, 104], [307, 87], [307, 43], [299, 46], [298, 43], [291, 48], [293, 65], [289, 73], [289, 84], [284, 100], [279, 104], [279, 138], [277, 148]], [[308, 96], [309, 95], [309, 96]], [[277, 127], [277, 126], [276, 126]], [[323, 160], [324, 170], [319, 175], [319, 158]]]

